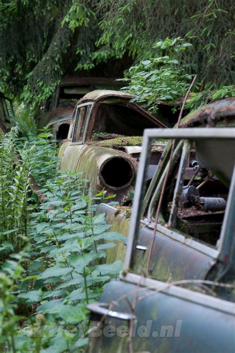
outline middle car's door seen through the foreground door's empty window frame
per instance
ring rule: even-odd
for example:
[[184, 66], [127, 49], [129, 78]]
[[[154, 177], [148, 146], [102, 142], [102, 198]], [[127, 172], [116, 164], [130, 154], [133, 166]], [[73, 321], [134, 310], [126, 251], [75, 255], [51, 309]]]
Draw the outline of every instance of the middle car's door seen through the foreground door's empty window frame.
[[[156, 137], [161, 135], [161, 131], [156, 132]], [[135, 251], [131, 254], [131, 268], [135, 273], [141, 274], [147, 271], [151, 277], [161, 281], [167, 281], [169, 278], [204, 279], [216, 266], [223, 267], [219, 258], [223, 242], [225, 209], [206, 211], [197, 209], [196, 206], [188, 208], [180, 206], [183, 192], [189, 182], [191, 187], [194, 183], [197, 188], [199, 187], [197, 191], [200, 191], [202, 197], [199, 195], [198, 199], [204, 202], [224, 200], [226, 204], [225, 200], [228, 197], [228, 189], [218, 178], [212, 178], [207, 183], [203, 181], [206, 178], [200, 178], [198, 174], [195, 174], [191, 181], [185, 178], [188, 156], [195, 144], [194, 140], [193, 138], [186, 141], [177, 140], [169, 170], [168, 154], [165, 161], [159, 165], [152, 185], [150, 184], [148, 188], [145, 201], [141, 202], [141, 199], [138, 201], [140, 225], [138, 230], [135, 228], [138, 237], [135, 240]], [[226, 141], [224, 143], [226, 144]], [[147, 156], [146, 151], [146, 163]], [[228, 160], [230, 160], [229, 153]], [[205, 170], [203, 172], [205, 173]], [[167, 173], [163, 202], [156, 223], [156, 209]], [[135, 194], [138, 193], [139, 188], [142, 191], [145, 189], [143, 180], [141, 183], [137, 181]], [[196, 187], [193, 188], [196, 189]], [[220, 193], [224, 193], [224, 199], [220, 197]], [[133, 225], [130, 224], [131, 228], [133, 229]]]

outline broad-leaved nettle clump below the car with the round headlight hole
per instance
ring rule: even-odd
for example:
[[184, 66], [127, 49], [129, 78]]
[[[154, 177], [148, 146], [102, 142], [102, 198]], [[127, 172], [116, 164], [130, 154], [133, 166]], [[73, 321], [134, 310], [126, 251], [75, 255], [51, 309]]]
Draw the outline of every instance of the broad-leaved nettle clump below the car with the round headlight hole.
[[[41, 190], [42, 203], [32, 215], [33, 260], [17, 299], [19, 304], [33, 305], [36, 319], [42, 320], [40, 337], [32, 346], [38, 347], [35, 352], [78, 349], [76, 342], [87, 329], [83, 327], [86, 304], [99, 299], [103, 285], [116, 278], [122, 267], [120, 261], [106, 264], [104, 260], [106, 249], [125, 238], [109, 231], [105, 214], [94, 215], [96, 202], [111, 197], [104, 192], [89, 199], [88, 187], [81, 173], [58, 175]], [[26, 324], [18, 333], [18, 344], [30, 335], [32, 326]], [[86, 339], [79, 341], [79, 347], [85, 343]]]

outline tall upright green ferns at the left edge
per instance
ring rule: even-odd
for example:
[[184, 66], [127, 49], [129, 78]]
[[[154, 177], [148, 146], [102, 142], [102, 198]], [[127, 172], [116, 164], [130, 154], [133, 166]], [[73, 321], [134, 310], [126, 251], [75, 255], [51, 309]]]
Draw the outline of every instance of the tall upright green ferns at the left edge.
[[27, 242], [29, 214], [28, 202], [31, 185], [32, 160], [35, 147], [24, 144], [19, 158], [16, 140], [19, 127], [12, 127], [0, 135], [0, 255], [1, 261]]

